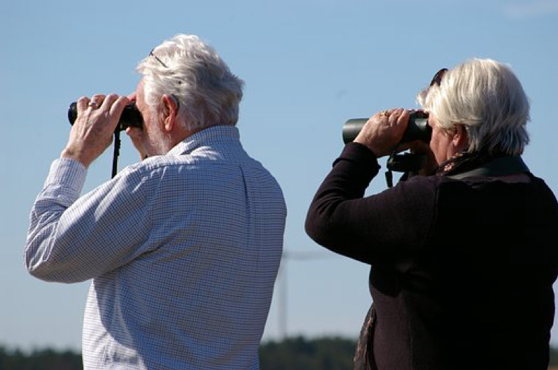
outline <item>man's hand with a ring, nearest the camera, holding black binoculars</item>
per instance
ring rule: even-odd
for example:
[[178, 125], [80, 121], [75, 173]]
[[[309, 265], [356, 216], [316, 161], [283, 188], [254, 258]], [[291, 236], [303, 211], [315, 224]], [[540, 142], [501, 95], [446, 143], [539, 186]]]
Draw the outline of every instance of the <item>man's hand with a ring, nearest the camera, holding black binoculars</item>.
[[120, 115], [129, 103], [127, 97], [116, 94], [78, 99], [78, 117], [60, 157], [76, 159], [88, 167], [111, 145]]

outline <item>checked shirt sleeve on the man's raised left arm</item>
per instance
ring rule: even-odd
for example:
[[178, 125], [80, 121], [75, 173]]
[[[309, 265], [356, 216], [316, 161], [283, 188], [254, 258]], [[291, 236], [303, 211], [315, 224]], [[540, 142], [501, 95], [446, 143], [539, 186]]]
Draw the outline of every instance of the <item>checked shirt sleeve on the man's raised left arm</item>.
[[146, 178], [131, 167], [80, 197], [87, 170], [57, 159], [30, 215], [25, 266], [37, 278], [63, 283], [118, 269], [148, 251]]

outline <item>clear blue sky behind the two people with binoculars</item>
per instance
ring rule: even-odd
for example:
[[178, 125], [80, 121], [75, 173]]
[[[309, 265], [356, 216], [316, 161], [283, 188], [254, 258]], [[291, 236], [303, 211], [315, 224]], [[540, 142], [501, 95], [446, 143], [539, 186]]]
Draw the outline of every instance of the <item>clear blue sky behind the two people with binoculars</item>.
[[[80, 348], [89, 283], [27, 274], [29, 210], [67, 141], [69, 103], [131, 92], [137, 62], [179, 33], [214, 45], [246, 81], [242, 141], [286, 197], [293, 258], [265, 339], [281, 335], [280, 297], [288, 335], [357, 335], [370, 304], [368, 266], [316, 246], [304, 232], [307, 206], [342, 149], [342, 123], [416, 107], [442, 66], [470, 57], [512, 66], [532, 104], [524, 159], [558, 194], [557, 0], [8, 1], [0, 13], [0, 345]], [[110, 148], [90, 167], [85, 191], [109, 179], [111, 159]], [[136, 160], [124, 136], [120, 169]], [[384, 187], [379, 176], [369, 191]]]

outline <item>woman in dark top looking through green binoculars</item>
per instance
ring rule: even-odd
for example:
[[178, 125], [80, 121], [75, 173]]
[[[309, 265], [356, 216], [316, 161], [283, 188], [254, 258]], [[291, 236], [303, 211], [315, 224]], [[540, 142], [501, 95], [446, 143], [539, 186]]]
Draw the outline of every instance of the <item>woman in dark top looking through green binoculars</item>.
[[363, 197], [410, 116], [377, 113], [307, 215], [316, 243], [371, 266], [356, 369], [547, 369], [558, 204], [519, 157], [529, 141], [522, 86], [508, 66], [471, 59], [418, 101], [435, 171]]

